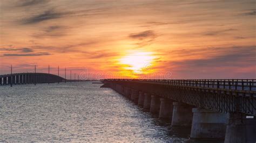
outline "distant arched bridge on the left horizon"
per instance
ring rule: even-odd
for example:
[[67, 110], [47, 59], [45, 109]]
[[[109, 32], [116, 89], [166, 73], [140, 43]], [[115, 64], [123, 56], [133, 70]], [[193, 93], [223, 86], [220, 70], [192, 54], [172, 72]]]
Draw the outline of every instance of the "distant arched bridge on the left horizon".
[[66, 81], [70, 80], [46, 73], [15, 73], [0, 75], [0, 85], [55, 83]]

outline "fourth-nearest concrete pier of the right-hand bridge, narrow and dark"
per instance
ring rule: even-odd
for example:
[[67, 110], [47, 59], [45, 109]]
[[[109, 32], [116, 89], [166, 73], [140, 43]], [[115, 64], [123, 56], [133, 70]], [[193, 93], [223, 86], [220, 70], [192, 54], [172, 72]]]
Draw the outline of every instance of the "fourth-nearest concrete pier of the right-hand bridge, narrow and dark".
[[167, 98], [160, 98], [159, 118], [172, 119], [173, 105], [172, 101]]

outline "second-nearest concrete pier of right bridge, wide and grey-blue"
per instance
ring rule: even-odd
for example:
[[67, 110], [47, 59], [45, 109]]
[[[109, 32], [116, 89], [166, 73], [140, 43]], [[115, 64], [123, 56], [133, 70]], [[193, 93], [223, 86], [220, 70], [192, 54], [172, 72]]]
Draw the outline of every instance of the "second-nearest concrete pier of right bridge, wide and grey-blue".
[[203, 108], [193, 108], [191, 138], [224, 139], [226, 132], [226, 113]]

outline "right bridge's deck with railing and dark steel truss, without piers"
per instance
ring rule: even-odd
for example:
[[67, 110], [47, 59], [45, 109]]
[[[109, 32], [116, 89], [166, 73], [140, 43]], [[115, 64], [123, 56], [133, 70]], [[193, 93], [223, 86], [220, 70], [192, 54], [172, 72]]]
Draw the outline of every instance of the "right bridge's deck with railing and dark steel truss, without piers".
[[255, 80], [106, 79], [104, 83], [113, 88], [115, 85], [129, 87], [214, 111], [256, 115]]

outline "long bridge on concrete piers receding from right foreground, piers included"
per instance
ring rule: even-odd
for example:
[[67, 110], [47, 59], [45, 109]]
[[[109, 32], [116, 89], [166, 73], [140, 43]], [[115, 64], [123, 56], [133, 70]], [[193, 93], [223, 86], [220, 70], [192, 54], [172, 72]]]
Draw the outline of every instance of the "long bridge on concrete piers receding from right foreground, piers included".
[[192, 126], [191, 138], [256, 142], [255, 80], [106, 79], [112, 88], [144, 111]]

